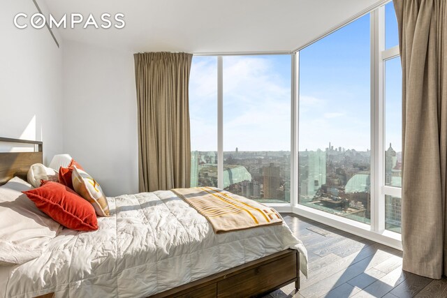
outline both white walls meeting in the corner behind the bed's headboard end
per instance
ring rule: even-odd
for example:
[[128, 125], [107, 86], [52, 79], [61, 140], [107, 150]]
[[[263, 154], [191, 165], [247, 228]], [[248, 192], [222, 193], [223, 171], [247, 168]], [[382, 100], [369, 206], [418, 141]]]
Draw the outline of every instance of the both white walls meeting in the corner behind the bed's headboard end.
[[0, 3], [0, 137], [42, 140], [45, 164], [71, 154], [106, 195], [137, 193], [133, 54], [68, 41], [58, 48], [46, 27], [17, 29], [17, 13], [37, 9], [31, 0]]

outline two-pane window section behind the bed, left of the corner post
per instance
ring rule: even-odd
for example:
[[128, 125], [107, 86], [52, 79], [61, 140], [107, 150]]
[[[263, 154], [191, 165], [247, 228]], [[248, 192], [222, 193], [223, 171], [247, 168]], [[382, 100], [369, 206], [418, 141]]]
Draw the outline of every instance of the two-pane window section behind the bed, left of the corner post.
[[290, 202], [291, 55], [223, 57], [222, 157], [218, 170], [218, 58], [193, 57], [191, 186], [260, 202]]

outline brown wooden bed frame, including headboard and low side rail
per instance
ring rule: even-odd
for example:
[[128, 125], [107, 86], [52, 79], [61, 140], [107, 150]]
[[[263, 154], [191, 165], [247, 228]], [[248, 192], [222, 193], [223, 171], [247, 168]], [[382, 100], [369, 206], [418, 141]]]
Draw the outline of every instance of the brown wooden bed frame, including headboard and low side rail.
[[[34, 152], [0, 153], [0, 185], [14, 176], [26, 180], [29, 167], [34, 163], [42, 163], [42, 142], [5, 137], [0, 137], [0, 142], [33, 144], [35, 148], [37, 147]], [[295, 290], [298, 291], [300, 254], [293, 249], [286, 249], [151, 297], [256, 297], [293, 282]], [[38, 298], [51, 297], [54, 297], [54, 293], [38, 296]]]

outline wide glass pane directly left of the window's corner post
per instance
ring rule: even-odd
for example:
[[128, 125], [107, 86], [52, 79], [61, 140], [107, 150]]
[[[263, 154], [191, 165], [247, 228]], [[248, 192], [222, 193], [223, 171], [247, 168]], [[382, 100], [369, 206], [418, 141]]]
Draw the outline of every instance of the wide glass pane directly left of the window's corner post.
[[290, 202], [291, 56], [223, 57], [223, 188]]

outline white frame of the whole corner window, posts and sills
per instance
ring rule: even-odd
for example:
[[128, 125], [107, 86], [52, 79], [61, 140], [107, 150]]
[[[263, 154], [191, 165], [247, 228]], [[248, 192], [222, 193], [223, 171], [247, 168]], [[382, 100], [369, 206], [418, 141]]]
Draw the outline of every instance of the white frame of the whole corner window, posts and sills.
[[[373, 241], [402, 250], [402, 237], [397, 232], [385, 229], [385, 196], [392, 195], [402, 198], [402, 188], [386, 186], [385, 184], [385, 63], [388, 59], [400, 56], [399, 46], [385, 48], [385, 5], [390, 0], [381, 1], [377, 6], [369, 8], [351, 20], [340, 24], [338, 27], [324, 33], [311, 43], [291, 52], [242, 52], [242, 53], [197, 53], [196, 56], [217, 57], [217, 181], [218, 187], [223, 186], [223, 56], [242, 55], [291, 55], [291, 202], [268, 203], [279, 212], [292, 212], [315, 221], [331, 225], [339, 230], [358, 234]], [[298, 154], [299, 154], [299, 109], [300, 109], [300, 50], [308, 45], [325, 38], [330, 33], [350, 24], [363, 15], [370, 15], [371, 38], [371, 224], [360, 223], [335, 214], [300, 205], [298, 202]]]

